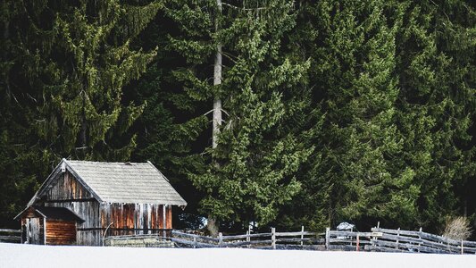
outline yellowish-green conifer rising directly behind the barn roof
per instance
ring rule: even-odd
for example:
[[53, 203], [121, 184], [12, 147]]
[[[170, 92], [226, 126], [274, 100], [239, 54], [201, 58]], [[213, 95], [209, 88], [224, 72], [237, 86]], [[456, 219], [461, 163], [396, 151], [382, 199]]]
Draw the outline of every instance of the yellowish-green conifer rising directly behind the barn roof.
[[158, 6], [79, 1], [55, 13], [48, 29], [54, 33], [54, 46], [43, 54], [47, 72], [35, 82], [43, 86], [44, 101], [38, 132], [57, 156], [129, 158], [135, 137], [123, 146], [117, 140], [143, 107], [122, 103], [121, 88], [138, 79], [155, 54], [131, 50], [129, 43]]

